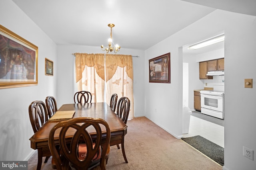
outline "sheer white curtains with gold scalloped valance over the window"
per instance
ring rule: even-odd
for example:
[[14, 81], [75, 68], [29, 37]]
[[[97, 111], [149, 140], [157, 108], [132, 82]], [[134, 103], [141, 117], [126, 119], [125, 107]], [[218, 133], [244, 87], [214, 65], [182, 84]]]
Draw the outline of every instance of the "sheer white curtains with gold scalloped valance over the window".
[[[92, 93], [92, 102], [110, 104], [111, 95], [118, 94], [130, 100], [128, 118], [134, 117], [133, 67], [131, 55], [76, 53], [76, 86], [78, 91]], [[106, 63], [105, 63], [106, 62]], [[106, 68], [104, 67], [106, 65]], [[106, 86], [105, 74], [106, 73]], [[104, 101], [104, 88], [106, 101]]]

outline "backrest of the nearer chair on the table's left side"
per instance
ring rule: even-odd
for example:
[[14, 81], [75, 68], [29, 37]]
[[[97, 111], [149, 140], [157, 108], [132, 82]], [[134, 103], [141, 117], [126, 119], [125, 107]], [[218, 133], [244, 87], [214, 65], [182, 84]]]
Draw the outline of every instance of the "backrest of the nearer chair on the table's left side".
[[30, 123], [34, 133], [48, 121], [48, 111], [43, 101], [34, 101], [28, 107]]

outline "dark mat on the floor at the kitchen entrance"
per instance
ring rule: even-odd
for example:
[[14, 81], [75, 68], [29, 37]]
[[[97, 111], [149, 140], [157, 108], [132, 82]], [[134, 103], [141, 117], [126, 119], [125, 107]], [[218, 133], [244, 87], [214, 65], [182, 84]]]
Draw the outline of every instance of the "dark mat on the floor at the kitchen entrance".
[[211, 158], [212, 160], [214, 160], [215, 162], [217, 162], [218, 164], [224, 166], [224, 148], [199, 135], [181, 139], [205, 154], [206, 156], [208, 156], [209, 158]]

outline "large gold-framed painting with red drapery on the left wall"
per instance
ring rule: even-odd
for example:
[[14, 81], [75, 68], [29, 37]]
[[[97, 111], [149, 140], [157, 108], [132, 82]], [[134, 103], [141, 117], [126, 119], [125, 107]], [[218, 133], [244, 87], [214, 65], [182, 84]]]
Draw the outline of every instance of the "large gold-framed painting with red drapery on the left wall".
[[0, 25], [0, 88], [37, 85], [37, 61], [36, 45]]

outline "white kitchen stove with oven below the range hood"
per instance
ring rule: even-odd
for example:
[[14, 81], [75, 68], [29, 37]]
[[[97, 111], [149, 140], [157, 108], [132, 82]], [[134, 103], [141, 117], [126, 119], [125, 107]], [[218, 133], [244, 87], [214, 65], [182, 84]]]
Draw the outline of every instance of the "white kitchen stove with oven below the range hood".
[[213, 89], [200, 91], [201, 113], [224, 119], [224, 86]]

